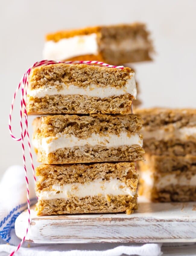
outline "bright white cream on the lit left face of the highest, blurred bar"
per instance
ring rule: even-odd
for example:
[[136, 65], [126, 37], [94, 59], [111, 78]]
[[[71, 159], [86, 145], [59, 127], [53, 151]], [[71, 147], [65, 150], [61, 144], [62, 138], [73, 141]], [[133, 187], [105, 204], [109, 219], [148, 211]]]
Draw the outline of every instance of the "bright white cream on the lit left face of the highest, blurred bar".
[[96, 33], [63, 38], [58, 42], [47, 41], [43, 49], [43, 58], [54, 61], [90, 54], [98, 54]]

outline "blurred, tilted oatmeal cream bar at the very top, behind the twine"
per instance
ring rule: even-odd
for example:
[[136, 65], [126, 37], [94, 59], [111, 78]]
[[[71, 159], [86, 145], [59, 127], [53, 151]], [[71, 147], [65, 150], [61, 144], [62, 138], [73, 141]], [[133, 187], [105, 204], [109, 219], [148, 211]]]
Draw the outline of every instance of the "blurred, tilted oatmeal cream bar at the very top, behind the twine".
[[97, 60], [112, 65], [151, 60], [152, 42], [146, 26], [98, 26], [64, 30], [46, 35], [45, 59]]

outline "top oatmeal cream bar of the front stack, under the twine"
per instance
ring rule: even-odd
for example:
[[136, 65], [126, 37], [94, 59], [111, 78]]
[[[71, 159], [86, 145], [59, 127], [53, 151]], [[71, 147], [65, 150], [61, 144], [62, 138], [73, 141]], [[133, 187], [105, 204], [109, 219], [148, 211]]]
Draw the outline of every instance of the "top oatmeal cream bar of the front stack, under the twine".
[[127, 114], [137, 90], [131, 68], [54, 64], [33, 68], [28, 114]]

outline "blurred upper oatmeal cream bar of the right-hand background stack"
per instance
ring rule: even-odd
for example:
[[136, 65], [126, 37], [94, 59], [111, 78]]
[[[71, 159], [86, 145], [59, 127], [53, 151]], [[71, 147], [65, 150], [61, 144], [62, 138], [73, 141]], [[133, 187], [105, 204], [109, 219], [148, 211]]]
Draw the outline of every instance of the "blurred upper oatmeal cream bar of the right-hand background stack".
[[144, 150], [155, 155], [196, 155], [196, 109], [137, 109], [144, 120]]

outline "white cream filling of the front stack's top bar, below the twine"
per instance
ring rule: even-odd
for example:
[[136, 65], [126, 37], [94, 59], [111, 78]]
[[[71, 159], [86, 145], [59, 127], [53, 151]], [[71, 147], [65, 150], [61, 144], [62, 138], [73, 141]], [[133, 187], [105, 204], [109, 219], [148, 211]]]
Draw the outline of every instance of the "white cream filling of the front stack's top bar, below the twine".
[[95, 84], [90, 84], [86, 87], [66, 85], [61, 83], [62, 90], [57, 90], [55, 86], [44, 85], [41, 88], [34, 90], [27, 90], [27, 95], [34, 98], [43, 98], [52, 95], [84, 95], [88, 97], [98, 97], [98, 98], [109, 98], [112, 96], [121, 96], [125, 94], [133, 95], [134, 99], [137, 96], [136, 83], [134, 79], [134, 73], [130, 73], [131, 78], [128, 79], [126, 84], [121, 88], [116, 88], [115, 86], [97, 86]]

